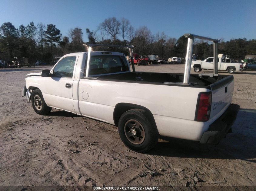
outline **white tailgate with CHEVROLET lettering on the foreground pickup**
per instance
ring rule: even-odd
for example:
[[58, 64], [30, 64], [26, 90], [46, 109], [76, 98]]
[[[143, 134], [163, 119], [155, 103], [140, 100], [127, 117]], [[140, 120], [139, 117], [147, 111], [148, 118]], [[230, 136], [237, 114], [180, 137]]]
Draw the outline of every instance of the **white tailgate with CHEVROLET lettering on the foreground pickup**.
[[209, 85], [212, 92], [211, 114], [209, 122], [213, 123], [231, 104], [234, 91], [234, 77], [229, 75]]

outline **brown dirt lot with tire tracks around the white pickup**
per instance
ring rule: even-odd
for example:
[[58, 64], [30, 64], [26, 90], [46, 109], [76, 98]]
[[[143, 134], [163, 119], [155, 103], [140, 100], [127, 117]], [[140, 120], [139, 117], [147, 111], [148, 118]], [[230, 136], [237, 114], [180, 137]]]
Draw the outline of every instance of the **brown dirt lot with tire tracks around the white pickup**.
[[[160, 186], [174, 190], [207, 186], [211, 190], [256, 188], [256, 71], [233, 74], [233, 103], [239, 104], [240, 110], [233, 132], [218, 145], [159, 139], [148, 154], [139, 154], [125, 147], [113, 125], [57, 109], [48, 116], [36, 114], [22, 97], [22, 88], [28, 73], [47, 68], [51, 67], [0, 69], [0, 189], [75, 189], [82, 185]], [[135, 68], [184, 72], [184, 64]], [[151, 176], [149, 169], [158, 175]]]

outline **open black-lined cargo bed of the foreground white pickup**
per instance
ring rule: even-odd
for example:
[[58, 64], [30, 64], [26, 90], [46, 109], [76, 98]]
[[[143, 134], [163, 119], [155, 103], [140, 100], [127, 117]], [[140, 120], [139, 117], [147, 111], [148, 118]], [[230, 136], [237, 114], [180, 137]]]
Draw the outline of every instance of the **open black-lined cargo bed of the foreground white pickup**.
[[[128, 72], [123, 74], [112, 74], [112, 75], [101, 75], [95, 76], [98, 80], [108, 80], [108, 81], [130, 81], [136, 83], [150, 83], [150, 84], [163, 84], [163, 85], [183, 85], [184, 74], [178, 73], [156, 73], [156, 72]], [[227, 75], [219, 75], [214, 77], [201, 76], [198, 74], [190, 75], [190, 85], [191, 86], [209, 86], [215, 82], [220, 81], [223, 78], [228, 77]], [[167, 82], [167, 83], [165, 83]], [[165, 84], [164, 84], [165, 83]], [[186, 86], [184, 84], [184, 86]]]

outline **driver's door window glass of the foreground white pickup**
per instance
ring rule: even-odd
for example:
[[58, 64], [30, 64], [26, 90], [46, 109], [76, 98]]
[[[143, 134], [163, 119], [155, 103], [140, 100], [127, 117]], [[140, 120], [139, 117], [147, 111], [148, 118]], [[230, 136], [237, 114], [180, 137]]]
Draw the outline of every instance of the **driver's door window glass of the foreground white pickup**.
[[72, 78], [75, 66], [76, 56], [68, 56], [63, 59], [55, 66], [53, 70], [54, 77], [59, 78]]

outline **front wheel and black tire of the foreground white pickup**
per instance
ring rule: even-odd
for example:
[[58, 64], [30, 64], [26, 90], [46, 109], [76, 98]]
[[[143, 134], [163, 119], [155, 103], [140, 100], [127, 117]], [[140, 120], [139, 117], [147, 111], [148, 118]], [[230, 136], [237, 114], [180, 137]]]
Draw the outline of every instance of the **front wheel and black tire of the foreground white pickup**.
[[47, 113], [50, 113], [50, 111], [52, 110], [52, 107], [48, 107], [46, 105], [42, 92], [39, 89], [36, 89], [32, 92], [31, 102], [35, 113], [39, 115], [45, 115]]

